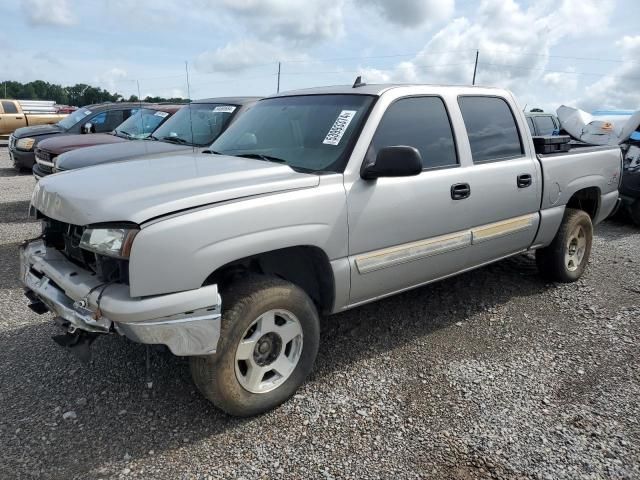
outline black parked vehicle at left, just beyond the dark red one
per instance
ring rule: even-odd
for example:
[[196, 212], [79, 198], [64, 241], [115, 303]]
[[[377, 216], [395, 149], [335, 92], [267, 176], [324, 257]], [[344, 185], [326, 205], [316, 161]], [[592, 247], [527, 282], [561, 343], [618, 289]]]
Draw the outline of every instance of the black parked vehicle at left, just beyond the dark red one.
[[107, 133], [144, 103], [100, 103], [82, 107], [53, 125], [19, 128], [9, 137], [9, 157], [18, 170], [29, 171], [36, 163], [35, 147], [42, 140], [76, 133]]

